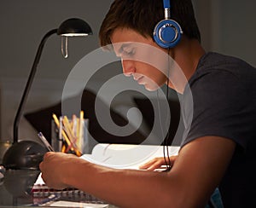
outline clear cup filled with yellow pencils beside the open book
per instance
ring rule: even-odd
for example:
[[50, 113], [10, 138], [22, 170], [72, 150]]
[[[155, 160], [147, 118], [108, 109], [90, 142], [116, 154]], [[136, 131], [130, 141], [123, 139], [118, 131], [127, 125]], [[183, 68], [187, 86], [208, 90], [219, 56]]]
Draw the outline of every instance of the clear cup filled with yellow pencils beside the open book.
[[88, 118], [81, 111], [79, 117], [72, 118], [62, 115], [59, 118], [53, 114], [51, 145], [55, 152], [73, 153], [81, 156], [88, 146]]

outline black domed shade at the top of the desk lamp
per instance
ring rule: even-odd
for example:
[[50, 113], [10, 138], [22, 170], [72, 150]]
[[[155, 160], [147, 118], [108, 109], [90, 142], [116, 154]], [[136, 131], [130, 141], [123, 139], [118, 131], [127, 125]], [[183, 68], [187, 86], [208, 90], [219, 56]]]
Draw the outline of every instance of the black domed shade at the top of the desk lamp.
[[59, 26], [58, 28], [57, 34], [67, 37], [88, 36], [92, 35], [92, 31], [88, 23], [84, 20], [78, 18], [71, 18], [61, 23], [61, 26]]

